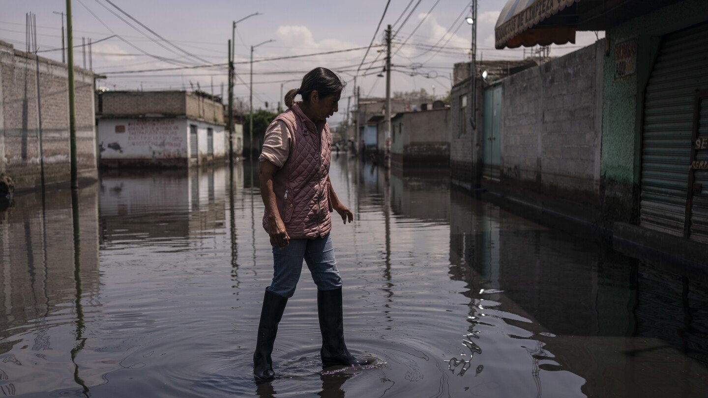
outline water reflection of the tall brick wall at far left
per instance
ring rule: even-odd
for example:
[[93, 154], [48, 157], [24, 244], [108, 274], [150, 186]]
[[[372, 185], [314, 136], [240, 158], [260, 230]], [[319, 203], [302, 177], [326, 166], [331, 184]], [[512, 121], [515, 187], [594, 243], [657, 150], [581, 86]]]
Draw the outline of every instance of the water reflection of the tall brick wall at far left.
[[[98, 185], [81, 188], [78, 194], [78, 274], [72, 195], [68, 190], [50, 191], [46, 198], [44, 211], [41, 193], [32, 193], [0, 212], [0, 353], [10, 353], [21, 363], [60, 349], [52, 346], [49, 329], [75, 322], [77, 285], [84, 312], [98, 305]], [[21, 349], [23, 345], [30, 350]], [[11, 377], [17, 375], [15, 369]]]

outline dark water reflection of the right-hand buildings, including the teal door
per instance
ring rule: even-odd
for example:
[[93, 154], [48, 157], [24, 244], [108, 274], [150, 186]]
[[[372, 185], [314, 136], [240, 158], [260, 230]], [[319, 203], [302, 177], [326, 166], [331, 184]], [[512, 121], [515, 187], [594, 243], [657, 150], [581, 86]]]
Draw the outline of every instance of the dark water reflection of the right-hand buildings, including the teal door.
[[[540, 344], [527, 346], [530, 374], [542, 381], [546, 370], [569, 370], [586, 380], [583, 393], [598, 397], [704, 391], [704, 279], [660, 271], [455, 190], [450, 196], [450, 277], [468, 284], [470, 316], [479, 292], [492, 288], [503, 290], [495, 309], [532, 321], [505, 319]], [[539, 364], [547, 353], [559, 365]]]

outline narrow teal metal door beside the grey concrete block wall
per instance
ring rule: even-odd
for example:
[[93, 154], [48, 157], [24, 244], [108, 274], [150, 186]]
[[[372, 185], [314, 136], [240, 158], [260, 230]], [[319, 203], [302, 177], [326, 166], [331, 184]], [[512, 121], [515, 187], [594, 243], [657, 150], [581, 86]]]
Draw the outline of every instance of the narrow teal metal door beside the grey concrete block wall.
[[501, 86], [484, 91], [482, 176], [498, 179], [501, 170]]

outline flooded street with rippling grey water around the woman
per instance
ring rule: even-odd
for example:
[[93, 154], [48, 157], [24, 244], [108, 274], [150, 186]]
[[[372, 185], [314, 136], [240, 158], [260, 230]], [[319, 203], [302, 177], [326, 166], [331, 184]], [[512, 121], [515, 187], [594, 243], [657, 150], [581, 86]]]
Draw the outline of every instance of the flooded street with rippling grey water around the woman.
[[108, 172], [79, 191], [79, 217], [69, 191], [1, 212], [0, 392], [708, 396], [708, 278], [475, 199], [447, 171], [387, 178], [345, 155], [330, 174], [355, 214], [332, 232], [345, 336], [379, 362], [322, 370], [306, 269], [275, 341], [277, 378], [256, 385], [273, 257], [251, 170]]

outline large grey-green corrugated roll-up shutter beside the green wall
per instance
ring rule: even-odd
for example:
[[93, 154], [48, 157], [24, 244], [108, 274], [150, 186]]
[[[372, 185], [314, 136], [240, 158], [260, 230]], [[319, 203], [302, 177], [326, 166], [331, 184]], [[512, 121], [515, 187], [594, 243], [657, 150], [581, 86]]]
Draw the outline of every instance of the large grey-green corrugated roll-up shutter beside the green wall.
[[685, 236], [695, 93], [708, 81], [708, 24], [663, 38], [644, 99], [643, 227]]

